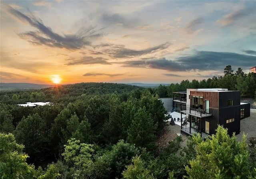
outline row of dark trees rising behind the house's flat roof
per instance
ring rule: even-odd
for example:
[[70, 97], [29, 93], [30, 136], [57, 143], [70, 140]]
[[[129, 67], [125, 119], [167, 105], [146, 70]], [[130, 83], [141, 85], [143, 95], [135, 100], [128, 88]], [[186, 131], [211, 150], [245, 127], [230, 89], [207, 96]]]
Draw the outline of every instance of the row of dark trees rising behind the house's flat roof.
[[196, 79], [191, 82], [183, 80], [180, 83], [172, 83], [170, 86], [160, 85], [157, 91], [161, 98], [165, 98], [172, 97], [172, 92], [186, 91], [188, 88], [227, 88], [228, 90], [239, 90], [242, 98], [256, 99], [256, 73], [245, 74], [241, 68], [238, 68], [234, 73], [232, 67], [227, 65], [222, 78], [214, 76], [201, 81]]

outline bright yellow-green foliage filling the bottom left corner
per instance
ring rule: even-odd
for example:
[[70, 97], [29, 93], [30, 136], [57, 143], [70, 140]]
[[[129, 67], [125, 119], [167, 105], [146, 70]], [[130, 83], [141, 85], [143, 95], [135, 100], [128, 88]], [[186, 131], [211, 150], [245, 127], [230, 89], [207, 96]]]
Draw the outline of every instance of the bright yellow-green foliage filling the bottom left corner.
[[2, 179], [54, 179], [59, 176], [54, 164], [43, 171], [28, 165], [24, 146], [17, 144], [13, 134], [0, 133], [0, 176]]

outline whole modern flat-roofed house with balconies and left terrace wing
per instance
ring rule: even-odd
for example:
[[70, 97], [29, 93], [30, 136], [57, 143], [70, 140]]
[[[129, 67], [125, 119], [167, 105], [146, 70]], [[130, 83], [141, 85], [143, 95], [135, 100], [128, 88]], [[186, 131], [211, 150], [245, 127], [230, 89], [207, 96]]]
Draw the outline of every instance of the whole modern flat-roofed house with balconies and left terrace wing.
[[[180, 98], [173, 100], [173, 110], [186, 115], [186, 125], [181, 125], [181, 132], [186, 135], [212, 135], [216, 133], [218, 125], [228, 128], [230, 136], [233, 132], [239, 134], [240, 120], [250, 116], [250, 104], [240, 103], [240, 91], [187, 89], [186, 93], [174, 93]], [[181, 117], [183, 124], [182, 120], [184, 118]]]

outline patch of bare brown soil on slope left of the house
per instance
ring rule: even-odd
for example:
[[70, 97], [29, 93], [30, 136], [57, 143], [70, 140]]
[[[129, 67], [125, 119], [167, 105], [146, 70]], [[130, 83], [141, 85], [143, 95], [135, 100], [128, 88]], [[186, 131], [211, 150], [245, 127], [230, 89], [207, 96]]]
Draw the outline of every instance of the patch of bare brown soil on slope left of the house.
[[[175, 140], [175, 138], [178, 136], [177, 134], [180, 134], [180, 126], [179, 125], [174, 125], [171, 126], [170, 122], [166, 123], [166, 126], [164, 127], [164, 132], [158, 138], [158, 148], [161, 151], [163, 148], [165, 148], [169, 142]], [[180, 142], [180, 147], [183, 148], [187, 144], [187, 136], [181, 135], [182, 136], [182, 142]]]

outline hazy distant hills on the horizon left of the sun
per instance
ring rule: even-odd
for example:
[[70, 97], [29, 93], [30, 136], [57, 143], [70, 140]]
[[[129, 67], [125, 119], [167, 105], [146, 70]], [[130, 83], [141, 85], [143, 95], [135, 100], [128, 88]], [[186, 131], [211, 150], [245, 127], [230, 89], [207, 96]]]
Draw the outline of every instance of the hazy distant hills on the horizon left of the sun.
[[0, 90], [14, 90], [14, 89], [42, 89], [54, 87], [54, 85], [40, 85], [33, 83], [0, 83]]

